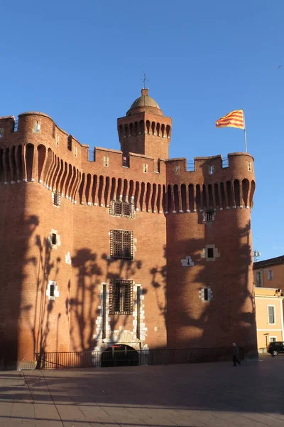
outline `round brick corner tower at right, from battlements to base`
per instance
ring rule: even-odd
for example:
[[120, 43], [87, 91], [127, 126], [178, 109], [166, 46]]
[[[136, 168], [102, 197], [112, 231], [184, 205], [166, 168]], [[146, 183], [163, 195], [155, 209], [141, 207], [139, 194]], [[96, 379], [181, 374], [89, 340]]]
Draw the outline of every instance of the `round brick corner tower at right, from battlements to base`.
[[253, 158], [197, 157], [167, 166], [169, 347], [256, 352], [251, 208]]

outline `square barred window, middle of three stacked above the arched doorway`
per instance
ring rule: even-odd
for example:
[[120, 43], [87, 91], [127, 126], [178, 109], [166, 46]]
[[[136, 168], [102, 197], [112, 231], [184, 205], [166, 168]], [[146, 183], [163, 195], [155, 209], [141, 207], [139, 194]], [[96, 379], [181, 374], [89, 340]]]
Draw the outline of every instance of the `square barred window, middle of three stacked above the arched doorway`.
[[133, 232], [111, 230], [111, 258], [133, 260]]

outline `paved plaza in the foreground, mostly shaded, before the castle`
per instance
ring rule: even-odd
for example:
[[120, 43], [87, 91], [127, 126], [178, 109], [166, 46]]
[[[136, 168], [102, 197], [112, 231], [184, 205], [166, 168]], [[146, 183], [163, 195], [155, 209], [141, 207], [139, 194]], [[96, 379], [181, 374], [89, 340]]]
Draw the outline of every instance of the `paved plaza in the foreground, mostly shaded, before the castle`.
[[0, 372], [0, 426], [284, 426], [284, 357]]

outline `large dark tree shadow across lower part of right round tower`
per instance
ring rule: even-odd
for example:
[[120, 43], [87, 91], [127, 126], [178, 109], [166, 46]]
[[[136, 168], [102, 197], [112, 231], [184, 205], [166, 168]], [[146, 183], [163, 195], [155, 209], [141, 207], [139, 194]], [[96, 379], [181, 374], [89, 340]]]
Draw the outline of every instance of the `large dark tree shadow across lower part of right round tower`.
[[[219, 258], [213, 263], [201, 258], [208, 240], [206, 229], [204, 239], [190, 238], [188, 241], [175, 243], [175, 251], [178, 254], [183, 253], [182, 258], [192, 255], [194, 267], [182, 267], [180, 255], [168, 253], [170, 288], [167, 285], [166, 254], [165, 265], [150, 270], [156, 307], [168, 327], [169, 347], [226, 347], [232, 341], [237, 341], [239, 345], [243, 345], [243, 342], [256, 342], [255, 305], [253, 295], [247, 288], [251, 268], [251, 223], [248, 221], [244, 228], [238, 228], [236, 224], [235, 226], [239, 258], [231, 259], [231, 253], [222, 253], [222, 263], [227, 265], [227, 268], [221, 272], [218, 270]], [[242, 260], [241, 264], [239, 259]], [[180, 283], [175, 277], [177, 270]], [[212, 278], [218, 278], [217, 283], [213, 283]], [[166, 305], [158, 298], [159, 288], [163, 288], [165, 292]], [[209, 302], [204, 302], [200, 310], [202, 288], [211, 288], [213, 297]], [[247, 351], [251, 349], [253, 348], [247, 348]]]

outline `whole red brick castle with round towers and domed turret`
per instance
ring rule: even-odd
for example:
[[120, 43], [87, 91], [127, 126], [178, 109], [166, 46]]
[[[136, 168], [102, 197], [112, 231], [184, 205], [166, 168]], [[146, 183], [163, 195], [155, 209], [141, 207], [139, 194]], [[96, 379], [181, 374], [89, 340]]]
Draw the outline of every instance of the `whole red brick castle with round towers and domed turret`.
[[35, 353], [256, 350], [250, 154], [169, 159], [172, 120], [143, 89], [121, 150], [41, 112], [0, 117], [0, 364]]

